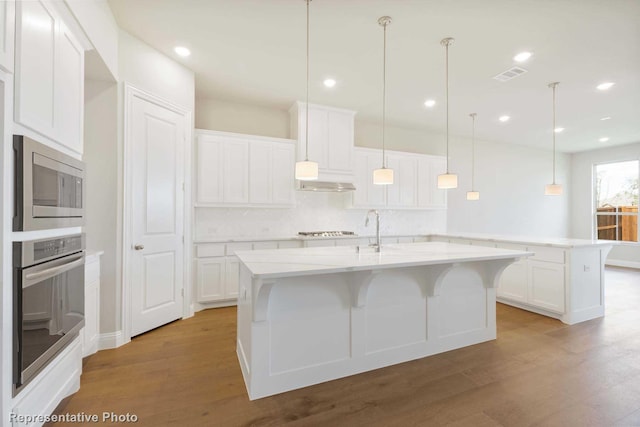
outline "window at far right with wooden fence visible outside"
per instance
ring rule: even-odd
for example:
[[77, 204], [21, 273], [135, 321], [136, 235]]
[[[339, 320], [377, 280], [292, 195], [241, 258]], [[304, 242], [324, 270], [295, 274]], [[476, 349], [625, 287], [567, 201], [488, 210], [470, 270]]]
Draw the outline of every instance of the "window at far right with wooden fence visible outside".
[[595, 166], [596, 236], [603, 240], [638, 241], [640, 161]]

